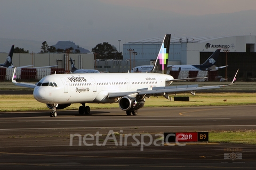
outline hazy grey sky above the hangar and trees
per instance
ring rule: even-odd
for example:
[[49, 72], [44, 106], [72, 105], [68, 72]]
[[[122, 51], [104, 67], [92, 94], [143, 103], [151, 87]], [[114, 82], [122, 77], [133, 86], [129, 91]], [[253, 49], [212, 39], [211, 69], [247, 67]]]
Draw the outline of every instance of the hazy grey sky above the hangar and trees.
[[256, 11], [255, 0], [1, 0], [0, 38], [73, 41], [90, 51], [108, 42], [122, 51], [122, 44], [165, 33], [256, 35], [255, 11], [248, 10]]

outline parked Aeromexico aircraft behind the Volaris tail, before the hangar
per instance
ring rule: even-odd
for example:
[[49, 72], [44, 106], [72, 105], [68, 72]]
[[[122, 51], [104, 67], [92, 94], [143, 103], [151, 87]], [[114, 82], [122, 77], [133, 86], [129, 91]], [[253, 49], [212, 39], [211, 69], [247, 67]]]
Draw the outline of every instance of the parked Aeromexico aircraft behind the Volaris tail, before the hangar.
[[[168, 65], [168, 70], [172, 71], [216, 71], [222, 69], [225, 66], [217, 67], [215, 66], [218, 56], [220, 54], [220, 49], [215, 50], [215, 52], [203, 63], [199, 65]], [[131, 72], [150, 72], [153, 69], [153, 65], [141, 65], [134, 67]]]

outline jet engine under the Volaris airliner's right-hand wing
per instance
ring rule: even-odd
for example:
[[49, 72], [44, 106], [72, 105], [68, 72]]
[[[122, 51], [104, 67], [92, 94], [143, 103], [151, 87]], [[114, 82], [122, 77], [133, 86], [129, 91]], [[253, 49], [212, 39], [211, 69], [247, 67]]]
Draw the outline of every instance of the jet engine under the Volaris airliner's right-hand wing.
[[135, 97], [124, 96], [119, 100], [119, 107], [123, 111], [136, 111], [144, 106], [145, 101], [137, 101]]

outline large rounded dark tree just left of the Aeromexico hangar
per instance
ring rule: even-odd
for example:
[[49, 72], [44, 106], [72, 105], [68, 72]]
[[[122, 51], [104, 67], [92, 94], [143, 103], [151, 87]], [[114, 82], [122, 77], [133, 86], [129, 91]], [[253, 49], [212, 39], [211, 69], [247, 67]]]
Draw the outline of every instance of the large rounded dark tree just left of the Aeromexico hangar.
[[116, 47], [106, 42], [98, 44], [96, 47], [92, 48], [92, 52], [97, 54], [97, 59], [123, 59], [122, 53], [118, 53]]

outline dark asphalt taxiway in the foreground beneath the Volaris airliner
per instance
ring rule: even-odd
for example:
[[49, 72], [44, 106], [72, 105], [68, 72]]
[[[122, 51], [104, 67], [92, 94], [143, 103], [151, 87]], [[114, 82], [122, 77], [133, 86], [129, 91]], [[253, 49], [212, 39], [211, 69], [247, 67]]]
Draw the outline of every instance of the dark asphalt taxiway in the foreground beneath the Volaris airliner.
[[[254, 168], [255, 145], [234, 143], [186, 143], [185, 146], [158, 146], [150, 143], [163, 132], [248, 131], [256, 129], [256, 105], [212, 107], [141, 108], [137, 116], [126, 116], [121, 109], [0, 113], [0, 167], [7, 168], [97, 168], [97, 169], [217, 169]], [[106, 141], [109, 132], [122, 132]], [[99, 143], [90, 138], [102, 134]], [[125, 134], [138, 134], [138, 141]], [[146, 134], [142, 140], [142, 134]], [[94, 139], [96, 137], [94, 136]], [[123, 141], [120, 139], [122, 138]], [[245, 137], [249, 138], [249, 137]], [[256, 139], [255, 139], [256, 140]], [[143, 143], [142, 143], [143, 142]], [[121, 145], [122, 143], [122, 145]], [[140, 145], [135, 146], [136, 143]], [[143, 144], [143, 151], [141, 150]], [[232, 154], [233, 153], [233, 154]], [[226, 157], [225, 157], [226, 154]], [[227, 157], [227, 154], [229, 157]], [[241, 159], [237, 154], [242, 155]]]

